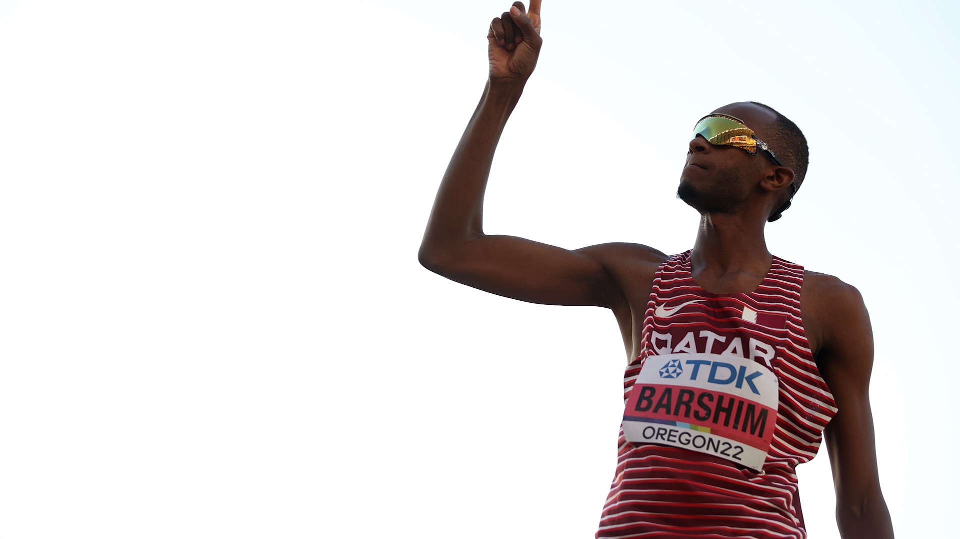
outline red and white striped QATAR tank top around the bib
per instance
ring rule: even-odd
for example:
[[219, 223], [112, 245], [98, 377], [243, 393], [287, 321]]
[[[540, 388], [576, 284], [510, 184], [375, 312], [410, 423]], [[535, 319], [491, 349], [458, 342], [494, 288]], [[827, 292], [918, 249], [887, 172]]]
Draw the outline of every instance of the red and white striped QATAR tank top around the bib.
[[[660, 265], [643, 319], [640, 355], [624, 373], [624, 402], [648, 358], [678, 353], [753, 358], [779, 383], [773, 438], [757, 472], [701, 451], [628, 441], [621, 426], [616, 474], [597, 539], [806, 537], [795, 469], [816, 455], [836, 407], [804, 335], [803, 282], [802, 267], [776, 256], [753, 293], [703, 290], [690, 274], [690, 251]], [[652, 366], [655, 363], [651, 360]], [[661, 377], [673, 376], [663, 369]], [[746, 387], [743, 378], [741, 369], [736, 382]], [[716, 413], [712, 419], [717, 420]], [[701, 423], [707, 428], [694, 428], [708, 432], [709, 419]], [[686, 437], [690, 439], [689, 434]]]

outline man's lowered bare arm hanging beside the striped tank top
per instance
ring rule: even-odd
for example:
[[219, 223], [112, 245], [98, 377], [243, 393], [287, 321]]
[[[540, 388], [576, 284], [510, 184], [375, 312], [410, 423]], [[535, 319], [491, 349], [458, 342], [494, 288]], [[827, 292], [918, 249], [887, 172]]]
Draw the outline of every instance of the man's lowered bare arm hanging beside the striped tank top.
[[[852, 286], [820, 275], [813, 308], [821, 344], [817, 363], [836, 400], [837, 413], [825, 431], [837, 526], [844, 539], [892, 539], [893, 524], [876, 469], [870, 373], [874, 336], [863, 298]], [[806, 283], [804, 282], [804, 288]], [[804, 316], [804, 320], [806, 316]]]

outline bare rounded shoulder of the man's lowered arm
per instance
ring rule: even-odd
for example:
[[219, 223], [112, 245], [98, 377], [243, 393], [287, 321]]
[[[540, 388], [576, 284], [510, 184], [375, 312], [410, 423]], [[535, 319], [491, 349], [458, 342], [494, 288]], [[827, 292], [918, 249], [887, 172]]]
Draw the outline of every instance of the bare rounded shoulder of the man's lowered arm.
[[804, 330], [814, 356], [838, 337], [871, 338], [870, 316], [863, 295], [834, 275], [804, 270], [800, 297]]

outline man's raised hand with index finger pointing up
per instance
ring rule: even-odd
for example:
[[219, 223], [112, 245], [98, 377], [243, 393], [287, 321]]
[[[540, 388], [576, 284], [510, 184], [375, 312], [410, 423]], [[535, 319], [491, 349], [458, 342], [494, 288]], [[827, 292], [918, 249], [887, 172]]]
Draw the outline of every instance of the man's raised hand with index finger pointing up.
[[530, 11], [523, 2], [514, 2], [509, 12], [493, 19], [487, 33], [492, 83], [523, 84], [534, 72], [540, 55], [540, 0], [530, 0]]

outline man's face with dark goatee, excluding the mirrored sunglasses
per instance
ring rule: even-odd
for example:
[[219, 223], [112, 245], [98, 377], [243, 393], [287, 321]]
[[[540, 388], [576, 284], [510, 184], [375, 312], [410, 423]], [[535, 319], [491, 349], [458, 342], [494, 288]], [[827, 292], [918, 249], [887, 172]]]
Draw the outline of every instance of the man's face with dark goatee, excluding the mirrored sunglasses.
[[[712, 113], [740, 118], [761, 140], [769, 138], [768, 126], [776, 120], [773, 112], [749, 103], [721, 106]], [[760, 155], [714, 146], [698, 136], [689, 143], [677, 197], [702, 213], [736, 213], [770, 165]]]

